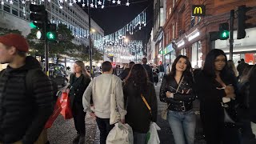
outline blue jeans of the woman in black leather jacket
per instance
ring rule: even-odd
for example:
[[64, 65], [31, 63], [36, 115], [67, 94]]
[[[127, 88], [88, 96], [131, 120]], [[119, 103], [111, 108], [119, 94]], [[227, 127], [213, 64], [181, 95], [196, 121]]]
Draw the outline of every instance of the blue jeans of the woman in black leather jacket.
[[196, 117], [193, 110], [168, 111], [167, 120], [174, 134], [175, 144], [194, 144]]

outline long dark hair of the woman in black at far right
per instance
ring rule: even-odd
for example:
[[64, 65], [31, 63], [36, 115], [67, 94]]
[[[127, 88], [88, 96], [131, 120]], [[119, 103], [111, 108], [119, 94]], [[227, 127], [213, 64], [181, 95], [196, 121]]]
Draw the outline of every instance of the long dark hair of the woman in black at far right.
[[[226, 58], [226, 54], [224, 53], [224, 51], [219, 49], [210, 50], [210, 52], [206, 55], [206, 62], [202, 70], [206, 75], [210, 76], [211, 78], [216, 78], [214, 62], [219, 55], [223, 55]], [[227, 59], [225, 61], [226, 65], [223, 67], [221, 75], [229, 74]]]

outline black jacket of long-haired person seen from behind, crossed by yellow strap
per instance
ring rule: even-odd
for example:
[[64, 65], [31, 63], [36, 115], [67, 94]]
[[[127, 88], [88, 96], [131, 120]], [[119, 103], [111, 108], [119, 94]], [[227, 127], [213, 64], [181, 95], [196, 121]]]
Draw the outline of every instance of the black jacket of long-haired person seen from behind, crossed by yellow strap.
[[134, 83], [126, 83], [123, 86], [123, 94], [127, 110], [126, 122], [133, 128], [134, 132], [147, 133], [150, 130], [150, 122], [156, 122], [158, 114], [158, 101], [153, 83], [148, 82], [147, 92], [143, 94], [146, 102], [150, 105], [152, 115], [143, 102], [139, 90], [135, 88]]

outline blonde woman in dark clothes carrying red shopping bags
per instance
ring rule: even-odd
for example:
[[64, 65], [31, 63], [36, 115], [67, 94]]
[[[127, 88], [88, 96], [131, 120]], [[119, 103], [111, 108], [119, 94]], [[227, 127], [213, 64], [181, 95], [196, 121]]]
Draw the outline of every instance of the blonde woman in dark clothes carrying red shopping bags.
[[77, 136], [73, 143], [84, 144], [86, 136], [86, 113], [83, 111], [82, 95], [90, 83], [90, 74], [82, 61], [74, 62], [74, 72], [70, 74], [70, 85], [67, 89], [70, 91], [70, 106], [74, 117], [74, 127], [77, 130]]

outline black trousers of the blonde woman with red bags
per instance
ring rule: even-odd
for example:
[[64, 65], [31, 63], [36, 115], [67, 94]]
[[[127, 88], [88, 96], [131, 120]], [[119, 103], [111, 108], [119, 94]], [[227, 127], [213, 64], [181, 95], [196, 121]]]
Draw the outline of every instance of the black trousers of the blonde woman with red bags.
[[74, 117], [74, 127], [78, 134], [81, 136], [86, 135], [86, 113], [83, 111], [83, 106], [80, 103], [74, 102], [72, 109], [72, 114]]

